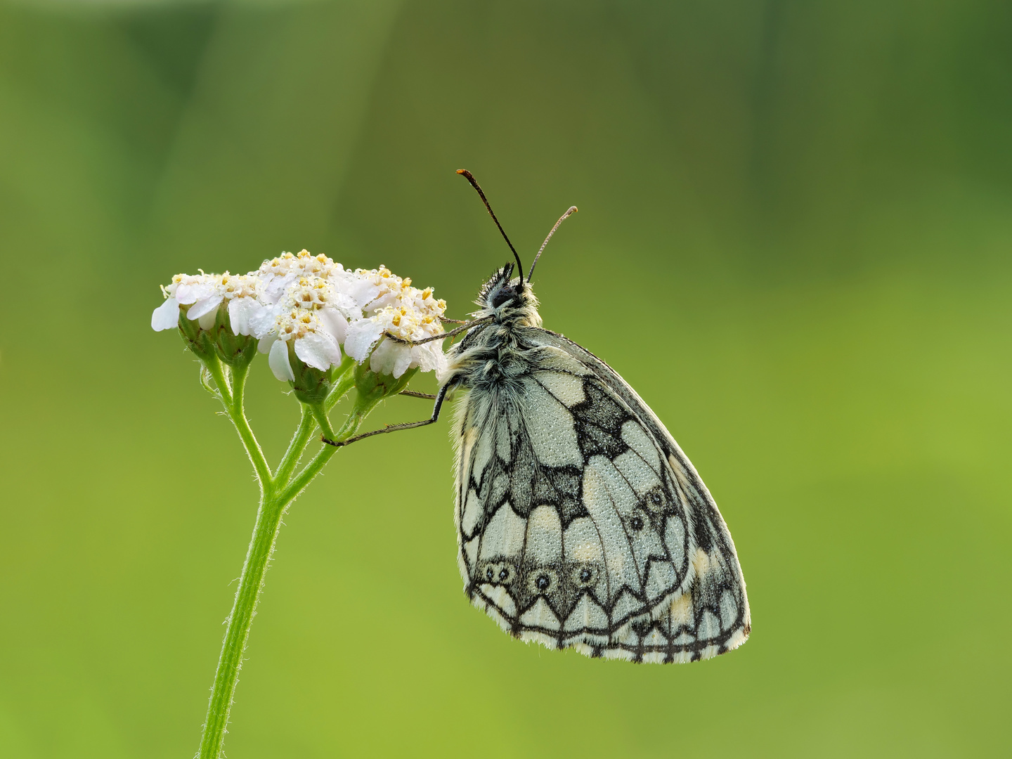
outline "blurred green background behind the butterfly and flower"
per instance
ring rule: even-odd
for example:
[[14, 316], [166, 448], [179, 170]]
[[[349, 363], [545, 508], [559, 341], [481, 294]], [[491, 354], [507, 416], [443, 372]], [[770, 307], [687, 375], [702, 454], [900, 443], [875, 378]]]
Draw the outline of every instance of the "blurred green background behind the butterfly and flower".
[[[580, 206], [545, 325], [695, 462], [752, 639], [504, 636], [440, 424], [291, 509], [228, 755], [1005, 754], [1010, 37], [1002, 0], [0, 0], [0, 755], [196, 749], [256, 494], [158, 284], [305, 247], [460, 317], [508, 260], [460, 167], [527, 261]], [[276, 459], [296, 403], [253, 368]]]

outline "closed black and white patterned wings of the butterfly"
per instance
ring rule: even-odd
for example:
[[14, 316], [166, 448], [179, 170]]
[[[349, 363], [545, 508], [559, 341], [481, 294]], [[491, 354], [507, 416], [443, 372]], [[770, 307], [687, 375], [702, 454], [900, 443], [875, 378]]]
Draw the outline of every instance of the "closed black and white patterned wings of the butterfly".
[[522, 641], [595, 657], [688, 662], [741, 646], [745, 582], [695, 469], [607, 364], [524, 332], [521, 369], [457, 406], [472, 602]]

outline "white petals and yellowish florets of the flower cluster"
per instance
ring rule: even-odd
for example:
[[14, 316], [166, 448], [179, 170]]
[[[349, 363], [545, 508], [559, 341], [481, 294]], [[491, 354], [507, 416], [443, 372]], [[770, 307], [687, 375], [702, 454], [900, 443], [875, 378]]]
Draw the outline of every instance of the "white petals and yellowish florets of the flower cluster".
[[153, 329], [175, 327], [184, 306], [187, 319], [209, 330], [227, 302], [233, 333], [259, 340], [278, 380], [294, 380], [289, 345], [301, 361], [321, 370], [341, 362], [342, 345], [359, 363], [368, 358], [372, 371], [395, 377], [416, 366], [445, 366], [441, 340], [416, 346], [381, 342], [386, 332], [411, 340], [441, 334], [446, 310], [431, 287], [413, 287], [411, 279], [385, 266], [351, 271], [304, 250], [282, 253], [249, 274], [176, 274], [162, 291], [166, 300], [151, 316]]

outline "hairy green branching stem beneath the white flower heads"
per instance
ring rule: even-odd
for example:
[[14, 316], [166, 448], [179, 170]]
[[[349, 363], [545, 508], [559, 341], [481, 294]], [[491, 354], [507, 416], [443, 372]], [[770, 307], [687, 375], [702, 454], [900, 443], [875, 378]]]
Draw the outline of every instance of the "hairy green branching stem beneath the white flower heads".
[[[324, 433], [332, 439], [350, 437], [357, 431], [375, 403], [367, 409], [356, 407], [340, 431], [336, 433], [336, 437], [327, 419], [326, 411], [323, 408], [314, 410], [304, 404], [299, 427], [278, 465], [277, 474], [271, 476], [270, 468], [267, 466], [263, 451], [260, 449], [243, 410], [247, 367], [237, 366], [234, 368], [230, 388], [222, 364], [214, 361], [207, 363], [210, 364], [208, 370], [218, 385], [222, 403], [239, 432], [239, 437], [243, 441], [260, 483], [260, 506], [257, 509], [256, 524], [253, 527], [253, 535], [246, 552], [246, 561], [243, 564], [232, 612], [227, 619], [228, 626], [225, 631], [225, 640], [222, 643], [218, 669], [215, 672], [215, 684], [212, 688], [210, 701], [207, 704], [203, 735], [200, 738], [199, 759], [219, 759], [229, 723], [229, 711], [239, 680], [239, 670], [242, 667], [243, 653], [249, 641], [250, 625], [256, 613], [260, 593], [263, 590], [264, 574], [277, 542], [281, 517], [296, 497], [338, 449], [332, 445], [324, 445], [323, 449], [317, 452], [294, 481], [289, 483], [291, 473], [302, 458], [318, 424], [323, 428]], [[325, 403], [326, 408], [329, 410], [333, 407], [353, 385], [354, 372], [345, 371], [337, 380], [328, 396]]]

